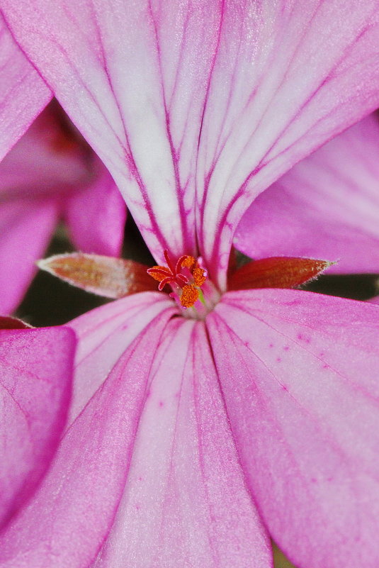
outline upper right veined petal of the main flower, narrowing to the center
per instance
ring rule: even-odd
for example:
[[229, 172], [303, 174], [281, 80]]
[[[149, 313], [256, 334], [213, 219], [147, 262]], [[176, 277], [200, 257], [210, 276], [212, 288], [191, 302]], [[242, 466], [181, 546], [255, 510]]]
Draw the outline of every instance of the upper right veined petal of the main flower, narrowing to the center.
[[226, 270], [254, 196], [378, 104], [378, 3], [231, 2], [222, 24], [197, 195], [200, 252], [209, 269]]

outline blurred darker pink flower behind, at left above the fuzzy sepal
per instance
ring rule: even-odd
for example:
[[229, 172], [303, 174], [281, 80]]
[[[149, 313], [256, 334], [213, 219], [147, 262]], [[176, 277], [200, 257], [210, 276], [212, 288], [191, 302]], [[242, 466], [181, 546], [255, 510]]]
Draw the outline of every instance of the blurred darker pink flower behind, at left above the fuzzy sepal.
[[79, 250], [119, 255], [125, 203], [57, 101], [0, 164], [0, 313], [11, 313], [59, 220]]

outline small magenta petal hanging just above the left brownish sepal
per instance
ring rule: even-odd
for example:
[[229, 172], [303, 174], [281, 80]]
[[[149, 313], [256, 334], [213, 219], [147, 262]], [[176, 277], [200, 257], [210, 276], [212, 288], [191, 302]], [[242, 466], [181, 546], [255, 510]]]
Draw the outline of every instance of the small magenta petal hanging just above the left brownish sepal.
[[123, 246], [125, 201], [101, 160], [94, 157], [92, 167], [93, 182], [67, 200], [65, 220], [78, 250], [118, 257]]

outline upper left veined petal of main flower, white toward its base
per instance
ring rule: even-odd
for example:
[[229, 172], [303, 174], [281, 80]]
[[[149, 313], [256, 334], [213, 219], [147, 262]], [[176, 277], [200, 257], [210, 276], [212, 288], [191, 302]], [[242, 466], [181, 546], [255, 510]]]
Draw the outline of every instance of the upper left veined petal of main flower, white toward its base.
[[[189, 10], [181, 0], [154, 7], [42, 0], [18, 8], [12, 23], [22, 25], [28, 52], [109, 168], [157, 260], [165, 248], [194, 252], [194, 173], [216, 2], [214, 11], [208, 3]], [[49, 33], [32, 33], [30, 42], [30, 26]]]

